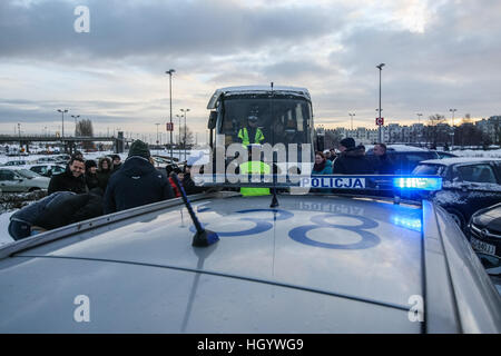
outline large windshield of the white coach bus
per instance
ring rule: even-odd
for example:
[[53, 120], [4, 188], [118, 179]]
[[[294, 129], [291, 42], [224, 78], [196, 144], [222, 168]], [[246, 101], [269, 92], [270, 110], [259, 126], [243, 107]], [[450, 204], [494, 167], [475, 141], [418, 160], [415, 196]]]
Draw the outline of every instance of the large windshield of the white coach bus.
[[[257, 117], [253, 123], [248, 117]], [[311, 106], [294, 96], [242, 95], [223, 101], [223, 119], [218, 134], [225, 135], [225, 145], [240, 142], [243, 129], [258, 128], [264, 139], [257, 144], [311, 144]], [[248, 132], [248, 131], [247, 131]], [[252, 140], [253, 138], [250, 138]], [[250, 142], [254, 144], [254, 142]]]

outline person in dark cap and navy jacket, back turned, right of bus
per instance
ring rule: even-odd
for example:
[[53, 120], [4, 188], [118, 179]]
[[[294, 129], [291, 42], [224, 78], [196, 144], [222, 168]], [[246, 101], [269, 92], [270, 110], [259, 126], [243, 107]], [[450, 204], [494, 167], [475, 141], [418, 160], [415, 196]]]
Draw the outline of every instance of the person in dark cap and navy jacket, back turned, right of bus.
[[355, 147], [355, 140], [351, 137], [341, 140], [341, 155], [333, 162], [334, 175], [372, 175], [374, 168], [365, 157], [365, 147]]

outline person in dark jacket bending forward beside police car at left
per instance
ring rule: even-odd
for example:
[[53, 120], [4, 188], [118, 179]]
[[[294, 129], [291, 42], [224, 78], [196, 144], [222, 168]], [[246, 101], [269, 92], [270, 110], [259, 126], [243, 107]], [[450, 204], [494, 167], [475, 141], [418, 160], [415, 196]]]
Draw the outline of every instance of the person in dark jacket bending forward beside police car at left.
[[102, 190], [57, 191], [16, 211], [9, 234], [14, 240], [102, 215]]

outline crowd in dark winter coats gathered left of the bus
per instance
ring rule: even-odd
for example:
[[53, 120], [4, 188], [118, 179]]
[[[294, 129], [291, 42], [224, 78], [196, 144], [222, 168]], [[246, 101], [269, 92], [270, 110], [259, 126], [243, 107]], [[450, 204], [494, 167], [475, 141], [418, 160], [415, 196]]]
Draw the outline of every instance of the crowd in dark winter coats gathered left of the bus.
[[[187, 194], [199, 192], [189, 166], [176, 172]], [[77, 152], [66, 171], [51, 178], [46, 198], [10, 217], [9, 234], [18, 240], [104, 214], [179, 197], [168, 174], [168, 168], [155, 168], [148, 145], [140, 140], [132, 142], [124, 164], [118, 155], [96, 164]]]

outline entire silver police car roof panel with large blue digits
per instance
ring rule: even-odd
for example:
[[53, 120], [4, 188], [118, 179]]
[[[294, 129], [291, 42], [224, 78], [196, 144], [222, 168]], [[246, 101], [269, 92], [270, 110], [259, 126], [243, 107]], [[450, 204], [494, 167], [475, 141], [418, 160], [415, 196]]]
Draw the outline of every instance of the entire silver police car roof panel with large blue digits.
[[[78, 330], [60, 313], [88, 294], [95, 332], [420, 332], [407, 300], [423, 294], [421, 207], [281, 196], [273, 210], [269, 200], [195, 202], [219, 233], [209, 248], [190, 246], [193, 224], [176, 206], [0, 260], [0, 288], [17, 286], [0, 310], [19, 310], [0, 330]], [[112, 320], [109, 308], [124, 315]]]

